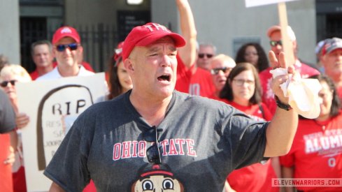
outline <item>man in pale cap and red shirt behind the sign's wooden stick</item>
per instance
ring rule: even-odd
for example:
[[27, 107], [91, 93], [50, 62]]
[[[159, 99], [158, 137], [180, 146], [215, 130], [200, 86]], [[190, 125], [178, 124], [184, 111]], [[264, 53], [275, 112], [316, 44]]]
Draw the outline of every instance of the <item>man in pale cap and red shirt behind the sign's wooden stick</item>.
[[[311, 66], [304, 64], [303, 62], [299, 61], [297, 57], [297, 40], [296, 36], [294, 35], [294, 31], [292, 31], [291, 27], [287, 27], [287, 34], [289, 35], [290, 40], [292, 41], [293, 51], [294, 51], [294, 68], [297, 72], [301, 74], [302, 78], [311, 77], [312, 75], [318, 75], [320, 72]], [[281, 33], [280, 33], [280, 26], [274, 25], [267, 30], [267, 36], [270, 39], [271, 50], [278, 55], [280, 52], [283, 51], [283, 44], [281, 42]], [[272, 64], [271, 64], [272, 65]], [[271, 90], [271, 80], [272, 75], [269, 73], [271, 69], [275, 66], [271, 66], [264, 71], [259, 73], [260, 82], [262, 84], [262, 101], [269, 107], [269, 110], [272, 114], [276, 112], [276, 101], [274, 100], [274, 94]]]

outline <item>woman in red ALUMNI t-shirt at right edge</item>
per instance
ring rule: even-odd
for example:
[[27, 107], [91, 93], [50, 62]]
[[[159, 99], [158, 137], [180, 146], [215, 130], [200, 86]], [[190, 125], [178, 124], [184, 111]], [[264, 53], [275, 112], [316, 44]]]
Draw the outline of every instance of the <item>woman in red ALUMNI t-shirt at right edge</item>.
[[[342, 111], [332, 80], [315, 76], [322, 89], [320, 115], [316, 119], [299, 119], [290, 152], [280, 156], [285, 178], [342, 178]], [[341, 191], [341, 186], [297, 186], [298, 191]], [[291, 189], [293, 190], [293, 189]]]

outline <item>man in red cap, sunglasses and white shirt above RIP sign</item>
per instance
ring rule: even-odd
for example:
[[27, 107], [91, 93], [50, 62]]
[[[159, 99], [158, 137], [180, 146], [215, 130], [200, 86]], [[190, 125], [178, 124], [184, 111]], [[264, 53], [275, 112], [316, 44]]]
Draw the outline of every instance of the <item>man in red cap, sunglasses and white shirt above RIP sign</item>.
[[51, 80], [60, 77], [85, 76], [94, 73], [79, 65], [83, 47], [80, 36], [73, 27], [60, 27], [52, 37], [53, 54], [57, 60], [54, 70], [38, 77], [37, 80]]

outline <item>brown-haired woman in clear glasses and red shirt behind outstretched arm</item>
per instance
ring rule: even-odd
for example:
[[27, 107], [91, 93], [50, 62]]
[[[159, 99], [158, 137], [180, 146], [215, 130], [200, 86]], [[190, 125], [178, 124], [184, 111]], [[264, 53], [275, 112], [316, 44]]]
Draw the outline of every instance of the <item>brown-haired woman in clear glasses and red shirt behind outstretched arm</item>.
[[[240, 63], [229, 73], [220, 98], [257, 121], [270, 121], [271, 113], [261, 102], [261, 90], [257, 69], [252, 64]], [[227, 182], [235, 191], [279, 191], [271, 188], [272, 178], [276, 178], [276, 173], [271, 161], [263, 161], [234, 170]], [[226, 191], [231, 191], [228, 184]]]

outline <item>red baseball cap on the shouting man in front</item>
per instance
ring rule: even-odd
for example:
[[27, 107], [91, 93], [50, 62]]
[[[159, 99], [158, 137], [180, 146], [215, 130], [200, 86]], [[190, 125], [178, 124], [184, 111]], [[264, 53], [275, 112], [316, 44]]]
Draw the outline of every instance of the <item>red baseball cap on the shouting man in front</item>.
[[179, 34], [173, 33], [162, 24], [149, 22], [142, 26], [134, 27], [127, 35], [122, 46], [122, 60], [124, 61], [131, 54], [135, 46], [147, 46], [159, 38], [170, 36], [175, 41], [176, 47], [183, 47], [185, 39]]

